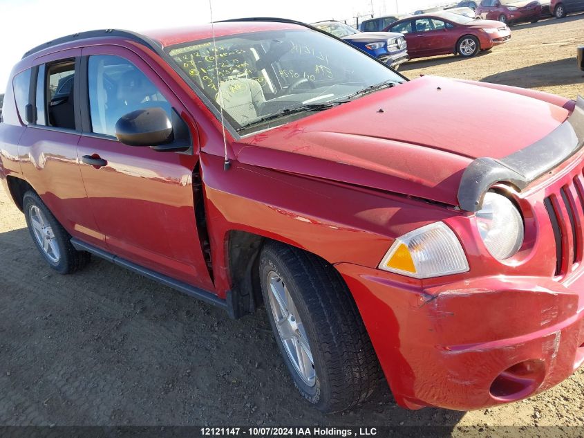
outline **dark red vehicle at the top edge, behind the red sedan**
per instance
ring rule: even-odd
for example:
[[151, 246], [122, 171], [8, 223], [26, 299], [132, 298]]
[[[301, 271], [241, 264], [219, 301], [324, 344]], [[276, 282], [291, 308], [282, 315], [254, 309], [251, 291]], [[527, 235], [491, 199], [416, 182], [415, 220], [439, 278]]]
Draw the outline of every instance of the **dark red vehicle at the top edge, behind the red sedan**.
[[539, 1], [482, 0], [475, 12], [477, 17], [505, 24], [536, 23], [541, 17], [542, 6]]

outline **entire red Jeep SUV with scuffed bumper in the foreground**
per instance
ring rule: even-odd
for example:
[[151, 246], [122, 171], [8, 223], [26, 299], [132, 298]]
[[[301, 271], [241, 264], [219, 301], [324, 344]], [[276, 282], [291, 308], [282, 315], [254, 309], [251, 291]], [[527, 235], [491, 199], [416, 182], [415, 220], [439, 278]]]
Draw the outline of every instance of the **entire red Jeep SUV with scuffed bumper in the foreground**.
[[3, 117], [0, 181], [48, 266], [104, 257], [234, 318], [263, 302], [319, 409], [367, 399], [379, 364], [399, 405], [469, 410], [584, 361], [582, 99], [408, 81], [246, 19], [56, 39]]

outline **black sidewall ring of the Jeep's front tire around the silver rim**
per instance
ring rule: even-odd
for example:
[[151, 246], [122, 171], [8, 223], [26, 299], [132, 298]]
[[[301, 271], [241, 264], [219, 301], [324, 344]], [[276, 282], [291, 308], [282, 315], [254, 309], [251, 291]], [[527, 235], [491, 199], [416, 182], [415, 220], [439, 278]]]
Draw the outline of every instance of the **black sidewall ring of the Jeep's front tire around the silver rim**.
[[[279, 336], [278, 329], [276, 327], [276, 321], [274, 320], [274, 315], [272, 313], [272, 309], [270, 308], [270, 292], [268, 291], [269, 285], [267, 284], [267, 274], [270, 271], [274, 271], [278, 274], [281, 278], [284, 279], [286, 287], [294, 300], [294, 304], [296, 305], [296, 309], [299, 313], [301, 320], [303, 321], [304, 328], [306, 334], [308, 336], [308, 343], [310, 345], [310, 351], [312, 352], [312, 358], [314, 359], [314, 370], [316, 372], [316, 383], [314, 386], [310, 387], [306, 385], [301, 377], [298, 375], [292, 360], [288, 356], [288, 352], [283, 345], [283, 342]], [[321, 405], [323, 402], [323, 381], [326, 381], [326, 374], [324, 374], [324, 370], [321, 367], [323, 363], [322, 353], [319, 351], [318, 343], [317, 343], [317, 333], [315, 331], [315, 325], [312, 321], [310, 316], [310, 310], [306, 306], [305, 300], [303, 298], [302, 292], [299, 291], [298, 287], [296, 286], [296, 282], [294, 282], [294, 275], [292, 272], [285, 266], [277, 255], [274, 255], [272, 252], [267, 251], [263, 252], [259, 262], [259, 272], [260, 272], [260, 282], [261, 282], [261, 290], [263, 295], [263, 300], [265, 303], [265, 310], [267, 313], [267, 317], [270, 320], [270, 325], [272, 326], [272, 331], [274, 333], [274, 338], [276, 338], [276, 343], [281, 352], [281, 356], [288, 367], [290, 375], [292, 377], [292, 381], [294, 382], [294, 386], [301, 392], [302, 396], [310, 401], [310, 403], [317, 405]]]

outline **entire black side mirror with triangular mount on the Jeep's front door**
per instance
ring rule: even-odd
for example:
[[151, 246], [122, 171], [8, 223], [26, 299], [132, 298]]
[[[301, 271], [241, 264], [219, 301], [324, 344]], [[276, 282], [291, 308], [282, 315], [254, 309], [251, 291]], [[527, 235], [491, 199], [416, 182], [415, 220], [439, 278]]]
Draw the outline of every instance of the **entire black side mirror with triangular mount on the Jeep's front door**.
[[122, 116], [115, 124], [117, 140], [129, 146], [148, 146], [158, 152], [192, 150], [189, 127], [175, 109], [172, 120], [160, 107], [137, 109]]

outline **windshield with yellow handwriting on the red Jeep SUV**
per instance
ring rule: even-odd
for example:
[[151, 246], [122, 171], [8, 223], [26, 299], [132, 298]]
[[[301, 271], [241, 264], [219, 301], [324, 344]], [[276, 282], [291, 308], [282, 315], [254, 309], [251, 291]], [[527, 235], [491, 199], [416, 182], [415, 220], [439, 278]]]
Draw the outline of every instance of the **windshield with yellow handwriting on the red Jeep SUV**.
[[[242, 134], [285, 110], [343, 100], [357, 91], [404, 79], [348, 44], [310, 29], [269, 30], [189, 42], [167, 49], [173, 61]], [[308, 113], [294, 115], [296, 118]], [[247, 129], [246, 127], [249, 127]]]

